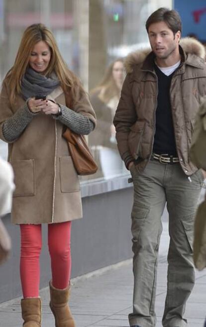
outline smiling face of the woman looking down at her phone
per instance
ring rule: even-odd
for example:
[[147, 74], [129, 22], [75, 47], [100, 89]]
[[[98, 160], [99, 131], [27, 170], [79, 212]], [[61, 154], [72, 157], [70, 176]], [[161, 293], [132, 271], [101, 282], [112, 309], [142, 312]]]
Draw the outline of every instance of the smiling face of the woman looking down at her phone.
[[37, 73], [43, 73], [49, 66], [51, 59], [51, 51], [49, 46], [44, 41], [37, 42], [31, 53], [29, 59], [30, 67]]

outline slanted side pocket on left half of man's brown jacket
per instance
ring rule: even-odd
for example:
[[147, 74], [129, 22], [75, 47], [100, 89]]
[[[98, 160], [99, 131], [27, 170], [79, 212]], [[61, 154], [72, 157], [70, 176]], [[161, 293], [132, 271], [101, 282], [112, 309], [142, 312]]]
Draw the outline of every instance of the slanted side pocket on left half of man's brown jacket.
[[142, 135], [144, 131], [145, 121], [136, 121], [131, 127], [130, 127], [130, 133], [128, 137], [128, 146], [129, 150], [131, 152], [131, 155], [137, 159], [139, 156], [139, 150], [142, 140]]

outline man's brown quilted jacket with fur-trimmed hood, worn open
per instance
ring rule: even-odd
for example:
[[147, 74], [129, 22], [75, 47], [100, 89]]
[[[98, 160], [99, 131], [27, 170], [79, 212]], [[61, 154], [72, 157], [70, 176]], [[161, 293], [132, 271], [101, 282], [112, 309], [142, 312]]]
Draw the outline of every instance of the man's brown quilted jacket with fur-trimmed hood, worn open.
[[[192, 38], [181, 41], [180, 53], [182, 61], [172, 77], [170, 99], [180, 164], [185, 174], [191, 175], [197, 170], [190, 161], [189, 149], [201, 97], [206, 95], [206, 53], [204, 46]], [[158, 89], [153, 63], [151, 49], [126, 58], [127, 76], [114, 117], [120, 155], [127, 167], [140, 158], [136, 165], [139, 173], [152, 154], [154, 142]]]

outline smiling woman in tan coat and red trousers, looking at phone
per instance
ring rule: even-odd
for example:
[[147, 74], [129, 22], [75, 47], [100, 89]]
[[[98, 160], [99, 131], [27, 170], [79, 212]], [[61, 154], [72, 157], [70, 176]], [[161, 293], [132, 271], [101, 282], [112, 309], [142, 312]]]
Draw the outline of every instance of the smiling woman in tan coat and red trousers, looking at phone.
[[16, 186], [11, 216], [21, 232], [24, 327], [41, 326], [42, 223], [48, 223], [50, 308], [56, 327], [75, 326], [68, 307], [70, 232], [71, 220], [82, 217], [82, 207], [79, 179], [62, 131], [67, 126], [89, 134], [95, 124], [88, 96], [67, 68], [51, 31], [43, 24], [26, 28], [0, 94], [0, 138], [9, 143]]

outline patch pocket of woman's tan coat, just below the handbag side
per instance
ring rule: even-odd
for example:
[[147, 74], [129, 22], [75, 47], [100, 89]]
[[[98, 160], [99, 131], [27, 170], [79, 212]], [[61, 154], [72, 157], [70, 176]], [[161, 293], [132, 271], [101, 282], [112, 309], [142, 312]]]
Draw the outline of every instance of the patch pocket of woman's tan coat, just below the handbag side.
[[60, 157], [60, 184], [61, 192], [80, 191], [80, 182], [70, 156]]

